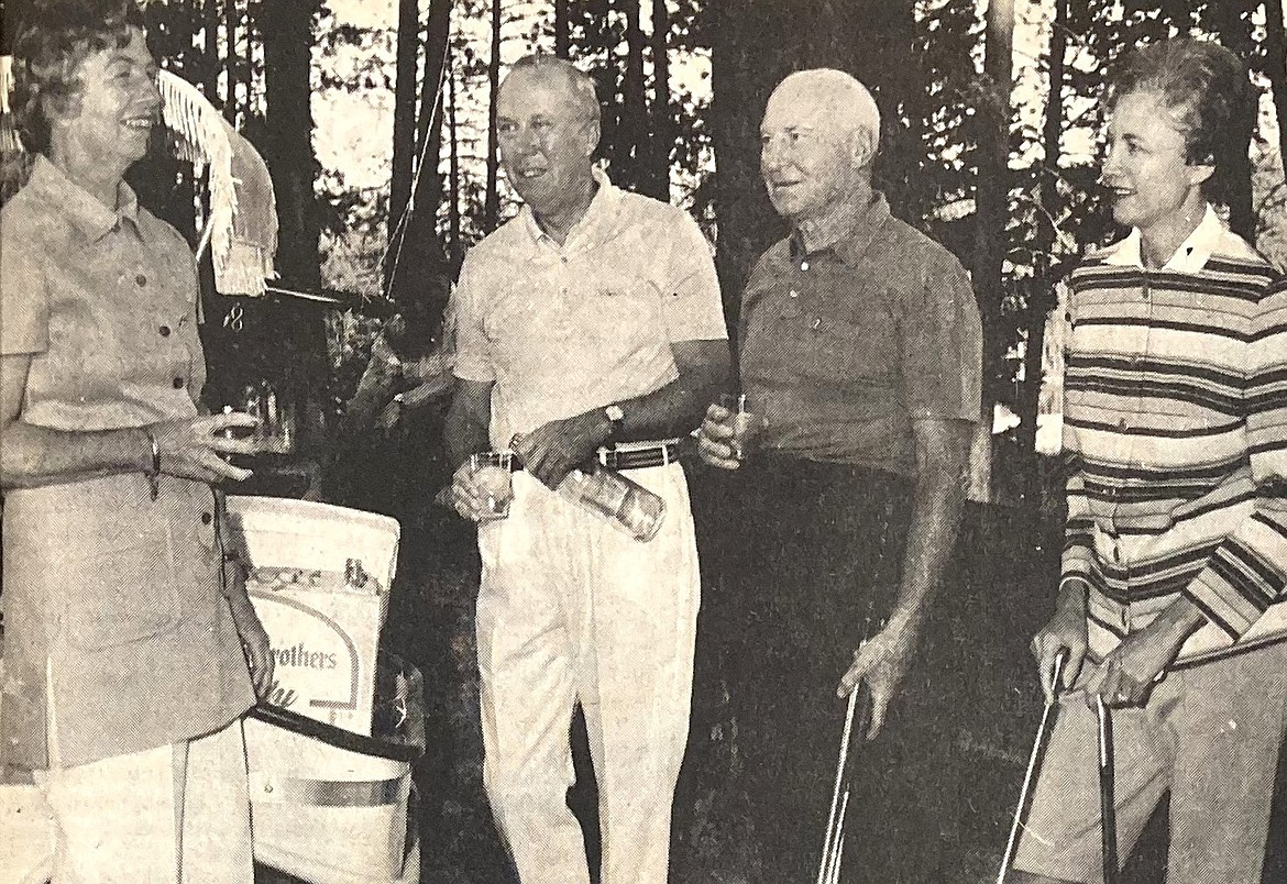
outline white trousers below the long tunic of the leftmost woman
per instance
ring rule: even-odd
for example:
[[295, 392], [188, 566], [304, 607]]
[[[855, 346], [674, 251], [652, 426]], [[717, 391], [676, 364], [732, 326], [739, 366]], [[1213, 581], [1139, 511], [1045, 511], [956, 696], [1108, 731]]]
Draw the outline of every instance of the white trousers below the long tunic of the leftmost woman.
[[37, 775], [51, 884], [250, 884], [241, 721], [196, 740]]

